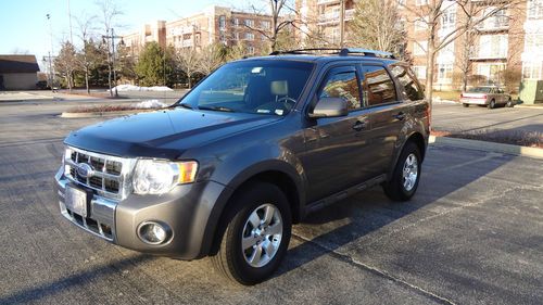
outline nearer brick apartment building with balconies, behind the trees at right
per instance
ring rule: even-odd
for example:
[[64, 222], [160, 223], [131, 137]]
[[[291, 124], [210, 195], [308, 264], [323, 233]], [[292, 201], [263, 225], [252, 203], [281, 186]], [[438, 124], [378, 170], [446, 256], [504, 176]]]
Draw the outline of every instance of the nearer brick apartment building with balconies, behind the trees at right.
[[[405, 5], [400, 5], [399, 23], [406, 31], [406, 52], [418, 78], [425, 80], [427, 24], [414, 12], [427, 5], [428, 0], [399, 1]], [[492, 9], [489, 1], [472, 1], [483, 10]], [[355, 2], [343, 1], [345, 46], [350, 46], [349, 23], [354, 15]], [[330, 45], [339, 45], [341, 3], [342, 0], [296, 1], [302, 40], [307, 33], [320, 33]], [[458, 5], [445, 3], [443, 7], [445, 10], [438, 30], [440, 37], [454, 29], [463, 16]], [[477, 30], [441, 50], [435, 60], [434, 89], [459, 89], [463, 75], [467, 75], [468, 86], [507, 86], [510, 91], [516, 91], [523, 78], [543, 79], [543, 0], [526, 0], [502, 10], [482, 22]]]

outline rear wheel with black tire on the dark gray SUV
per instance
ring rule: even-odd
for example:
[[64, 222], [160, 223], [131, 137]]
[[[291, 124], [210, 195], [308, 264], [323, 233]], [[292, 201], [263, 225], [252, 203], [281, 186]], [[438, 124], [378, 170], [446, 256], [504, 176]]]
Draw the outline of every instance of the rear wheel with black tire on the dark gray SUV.
[[417, 191], [420, 165], [418, 147], [414, 142], [407, 142], [397, 158], [391, 179], [382, 185], [387, 196], [394, 201], [408, 201]]

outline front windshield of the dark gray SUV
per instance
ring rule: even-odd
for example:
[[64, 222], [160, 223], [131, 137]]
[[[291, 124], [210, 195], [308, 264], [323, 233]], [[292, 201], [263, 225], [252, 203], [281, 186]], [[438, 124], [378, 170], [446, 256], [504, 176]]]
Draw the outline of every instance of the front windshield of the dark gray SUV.
[[294, 61], [229, 63], [178, 103], [200, 110], [286, 115], [298, 102], [312, 69], [312, 63]]

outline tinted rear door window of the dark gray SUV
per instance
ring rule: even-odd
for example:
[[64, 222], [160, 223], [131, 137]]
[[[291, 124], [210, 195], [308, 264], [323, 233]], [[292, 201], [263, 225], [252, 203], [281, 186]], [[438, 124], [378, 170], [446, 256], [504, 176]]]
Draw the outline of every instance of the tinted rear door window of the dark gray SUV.
[[362, 71], [362, 90], [368, 106], [396, 101], [394, 82], [384, 67], [364, 66]]

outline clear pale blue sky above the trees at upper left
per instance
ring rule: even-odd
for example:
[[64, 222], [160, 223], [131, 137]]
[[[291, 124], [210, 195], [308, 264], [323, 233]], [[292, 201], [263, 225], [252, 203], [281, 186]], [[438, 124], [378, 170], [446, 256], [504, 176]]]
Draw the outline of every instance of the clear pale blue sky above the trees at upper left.
[[[98, 0], [101, 2], [103, 0]], [[225, 5], [243, 9], [248, 0], [114, 0], [123, 12], [118, 17], [115, 33], [122, 35], [137, 30], [142, 24], [156, 20], [173, 21], [190, 15], [209, 5]], [[99, 15], [99, 9], [93, 0], [70, 0], [74, 45], [77, 41], [76, 18], [84, 15]], [[60, 43], [70, 39], [68, 0], [2, 0], [0, 4], [0, 54], [14, 51], [35, 54], [41, 64], [41, 59], [51, 49], [51, 35], [47, 14], [51, 15], [53, 52], [56, 53]], [[98, 34], [98, 33], [97, 33]], [[102, 33], [99, 33], [100, 35]]]

